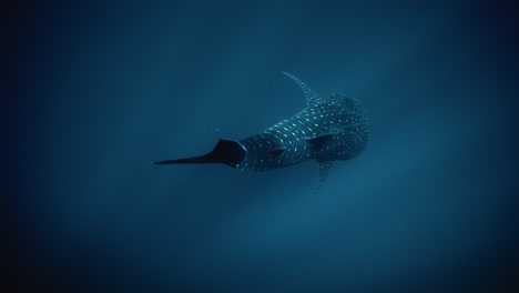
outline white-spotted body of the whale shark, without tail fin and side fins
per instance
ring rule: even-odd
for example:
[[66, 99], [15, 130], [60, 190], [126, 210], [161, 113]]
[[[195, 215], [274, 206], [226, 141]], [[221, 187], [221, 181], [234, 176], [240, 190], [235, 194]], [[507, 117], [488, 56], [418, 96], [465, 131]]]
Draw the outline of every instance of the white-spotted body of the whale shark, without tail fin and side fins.
[[241, 140], [247, 155], [236, 168], [265, 171], [309, 159], [347, 160], [357, 155], [367, 140], [367, 122], [360, 103], [334, 95], [260, 134]]

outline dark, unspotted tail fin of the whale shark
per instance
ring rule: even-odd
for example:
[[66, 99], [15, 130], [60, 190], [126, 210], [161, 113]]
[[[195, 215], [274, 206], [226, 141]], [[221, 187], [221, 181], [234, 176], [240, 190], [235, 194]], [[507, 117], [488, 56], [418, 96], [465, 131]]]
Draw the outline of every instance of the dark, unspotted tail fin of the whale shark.
[[153, 164], [204, 164], [204, 163], [224, 163], [231, 166], [235, 166], [237, 163], [243, 161], [246, 152], [242, 145], [232, 140], [220, 140], [214, 150], [207, 154], [153, 162]]

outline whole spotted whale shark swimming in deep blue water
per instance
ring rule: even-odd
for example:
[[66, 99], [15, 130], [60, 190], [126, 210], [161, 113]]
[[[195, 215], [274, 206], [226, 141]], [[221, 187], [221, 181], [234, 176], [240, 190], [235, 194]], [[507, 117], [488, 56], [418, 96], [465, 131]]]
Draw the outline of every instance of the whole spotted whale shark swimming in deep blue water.
[[208, 154], [154, 164], [224, 163], [241, 171], [266, 171], [315, 159], [320, 169], [317, 191], [333, 161], [352, 159], [366, 146], [365, 111], [355, 99], [340, 94], [323, 99], [298, 78], [282, 73], [306, 95], [307, 105], [301, 112], [246, 139], [220, 140]]

